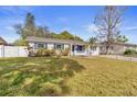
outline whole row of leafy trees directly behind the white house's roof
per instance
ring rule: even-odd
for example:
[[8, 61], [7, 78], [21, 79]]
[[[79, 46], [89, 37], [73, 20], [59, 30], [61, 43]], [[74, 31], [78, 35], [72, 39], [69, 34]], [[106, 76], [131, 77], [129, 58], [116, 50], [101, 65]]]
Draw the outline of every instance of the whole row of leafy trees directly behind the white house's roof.
[[48, 26], [36, 26], [34, 15], [31, 13], [27, 14], [24, 24], [15, 24], [14, 29], [17, 33], [21, 35], [21, 38], [15, 41], [15, 44], [19, 44], [19, 42], [22, 44], [22, 41], [25, 41], [28, 36], [83, 41], [81, 37], [74, 36], [67, 31], [63, 31], [60, 34], [55, 34], [51, 33]]

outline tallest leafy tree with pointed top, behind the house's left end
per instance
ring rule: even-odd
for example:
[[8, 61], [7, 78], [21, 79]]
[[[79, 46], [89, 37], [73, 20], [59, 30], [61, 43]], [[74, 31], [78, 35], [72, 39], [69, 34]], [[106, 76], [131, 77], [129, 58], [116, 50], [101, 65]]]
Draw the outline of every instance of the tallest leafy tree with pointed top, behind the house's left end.
[[46, 26], [36, 26], [34, 15], [31, 13], [27, 14], [24, 25], [17, 24], [14, 29], [22, 39], [25, 39], [28, 36], [35, 37], [52, 37], [50, 31]]

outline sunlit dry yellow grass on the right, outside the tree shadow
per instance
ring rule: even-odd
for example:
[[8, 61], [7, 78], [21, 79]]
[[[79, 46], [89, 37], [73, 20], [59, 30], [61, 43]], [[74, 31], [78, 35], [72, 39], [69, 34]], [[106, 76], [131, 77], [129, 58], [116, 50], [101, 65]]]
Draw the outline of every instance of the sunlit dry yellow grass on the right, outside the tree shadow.
[[137, 95], [137, 63], [107, 58], [76, 58], [86, 70], [70, 81], [71, 95]]

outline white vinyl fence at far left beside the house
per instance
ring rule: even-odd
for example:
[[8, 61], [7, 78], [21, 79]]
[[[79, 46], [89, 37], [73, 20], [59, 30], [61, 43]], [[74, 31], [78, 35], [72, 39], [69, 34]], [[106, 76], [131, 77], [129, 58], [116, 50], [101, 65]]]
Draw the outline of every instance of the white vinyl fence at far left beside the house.
[[28, 49], [24, 46], [0, 45], [0, 57], [28, 57]]

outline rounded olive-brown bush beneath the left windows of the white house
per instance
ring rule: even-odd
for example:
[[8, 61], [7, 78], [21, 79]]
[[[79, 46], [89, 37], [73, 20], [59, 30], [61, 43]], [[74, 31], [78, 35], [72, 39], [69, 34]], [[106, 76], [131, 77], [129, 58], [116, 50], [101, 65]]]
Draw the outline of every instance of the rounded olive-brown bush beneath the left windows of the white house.
[[55, 55], [54, 49], [44, 49], [44, 48], [41, 48], [41, 49], [39, 49], [39, 50], [35, 53], [35, 56], [36, 56], [36, 57], [54, 56], [54, 55]]

